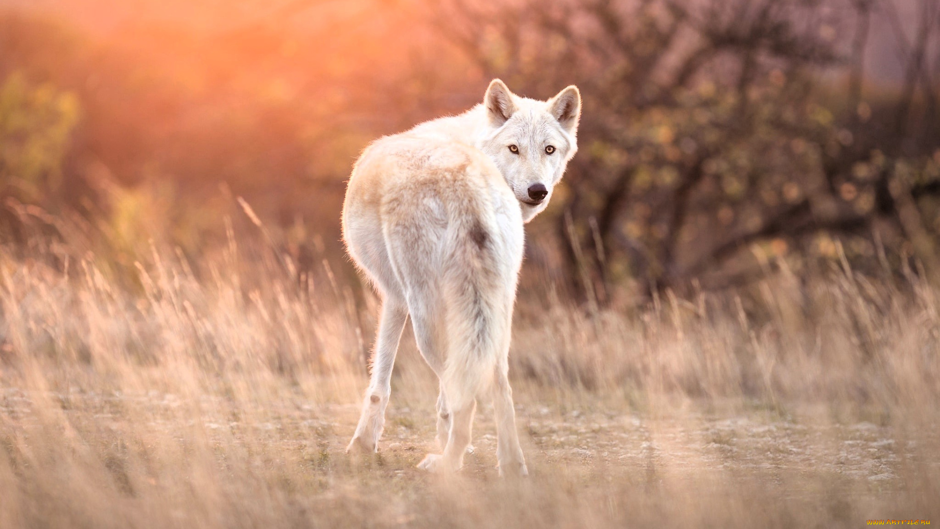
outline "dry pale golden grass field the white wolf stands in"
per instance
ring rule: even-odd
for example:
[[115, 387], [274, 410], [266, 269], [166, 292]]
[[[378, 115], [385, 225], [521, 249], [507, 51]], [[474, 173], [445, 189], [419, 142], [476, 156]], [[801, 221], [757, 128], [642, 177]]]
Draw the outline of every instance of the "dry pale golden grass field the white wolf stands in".
[[940, 523], [940, 290], [914, 275], [784, 266], [600, 313], [524, 292], [512, 481], [488, 403], [461, 473], [415, 469], [436, 385], [407, 331], [380, 453], [344, 455], [377, 302], [328, 264], [301, 292], [234, 242], [142, 261], [0, 254], [0, 527]]

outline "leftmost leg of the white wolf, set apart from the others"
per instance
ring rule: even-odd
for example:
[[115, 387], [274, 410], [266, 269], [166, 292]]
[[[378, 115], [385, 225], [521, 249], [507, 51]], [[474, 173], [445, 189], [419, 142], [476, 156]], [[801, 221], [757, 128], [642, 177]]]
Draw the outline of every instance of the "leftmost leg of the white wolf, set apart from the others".
[[362, 415], [355, 428], [347, 454], [374, 453], [385, 425], [385, 407], [392, 394], [392, 367], [399, 349], [401, 331], [405, 327], [408, 311], [404, 304], [386, 298], [382, 303], [379, 335], [372, 352], [372, 376], [368, 383], [366, 398], [362, 404]]

